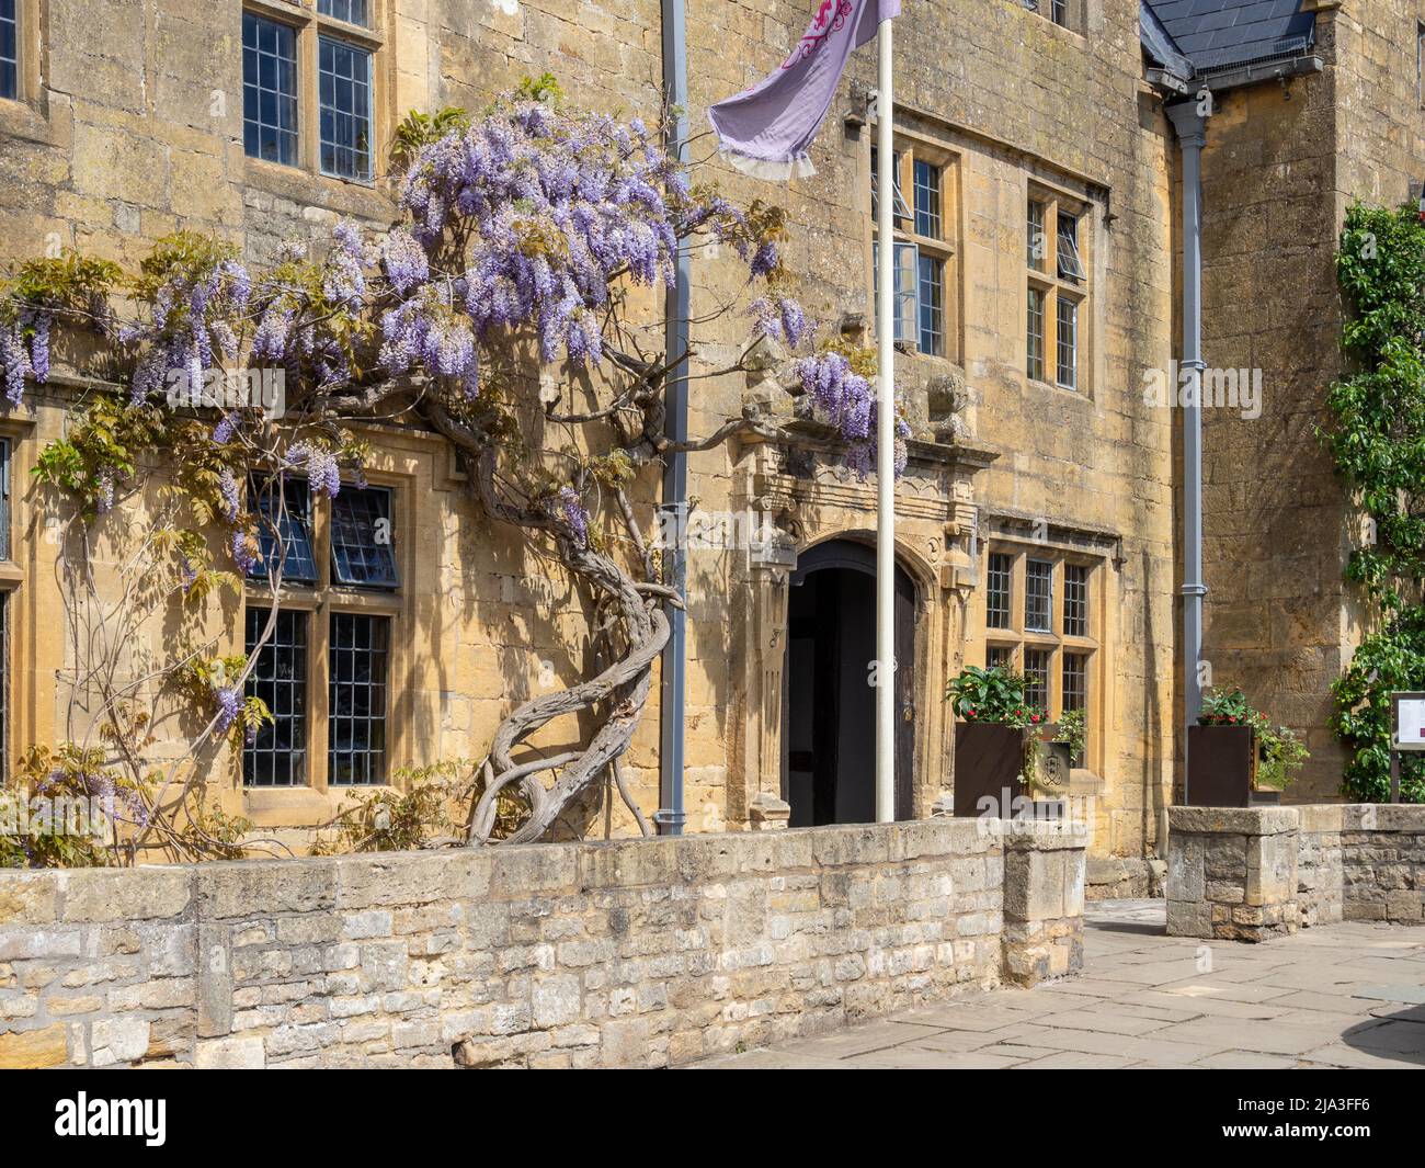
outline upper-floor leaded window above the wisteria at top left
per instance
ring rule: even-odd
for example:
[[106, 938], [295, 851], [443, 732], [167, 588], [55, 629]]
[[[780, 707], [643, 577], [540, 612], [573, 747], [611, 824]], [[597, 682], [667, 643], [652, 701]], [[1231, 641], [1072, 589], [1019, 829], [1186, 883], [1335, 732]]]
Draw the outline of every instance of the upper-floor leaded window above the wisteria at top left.
[[[6, 3], [6, 0], [0, 0]], [[318, 0], [315, 16], [242, 13], [242, 148], [249, 158], [370, 183], [382, 41], [369, 0]]]

